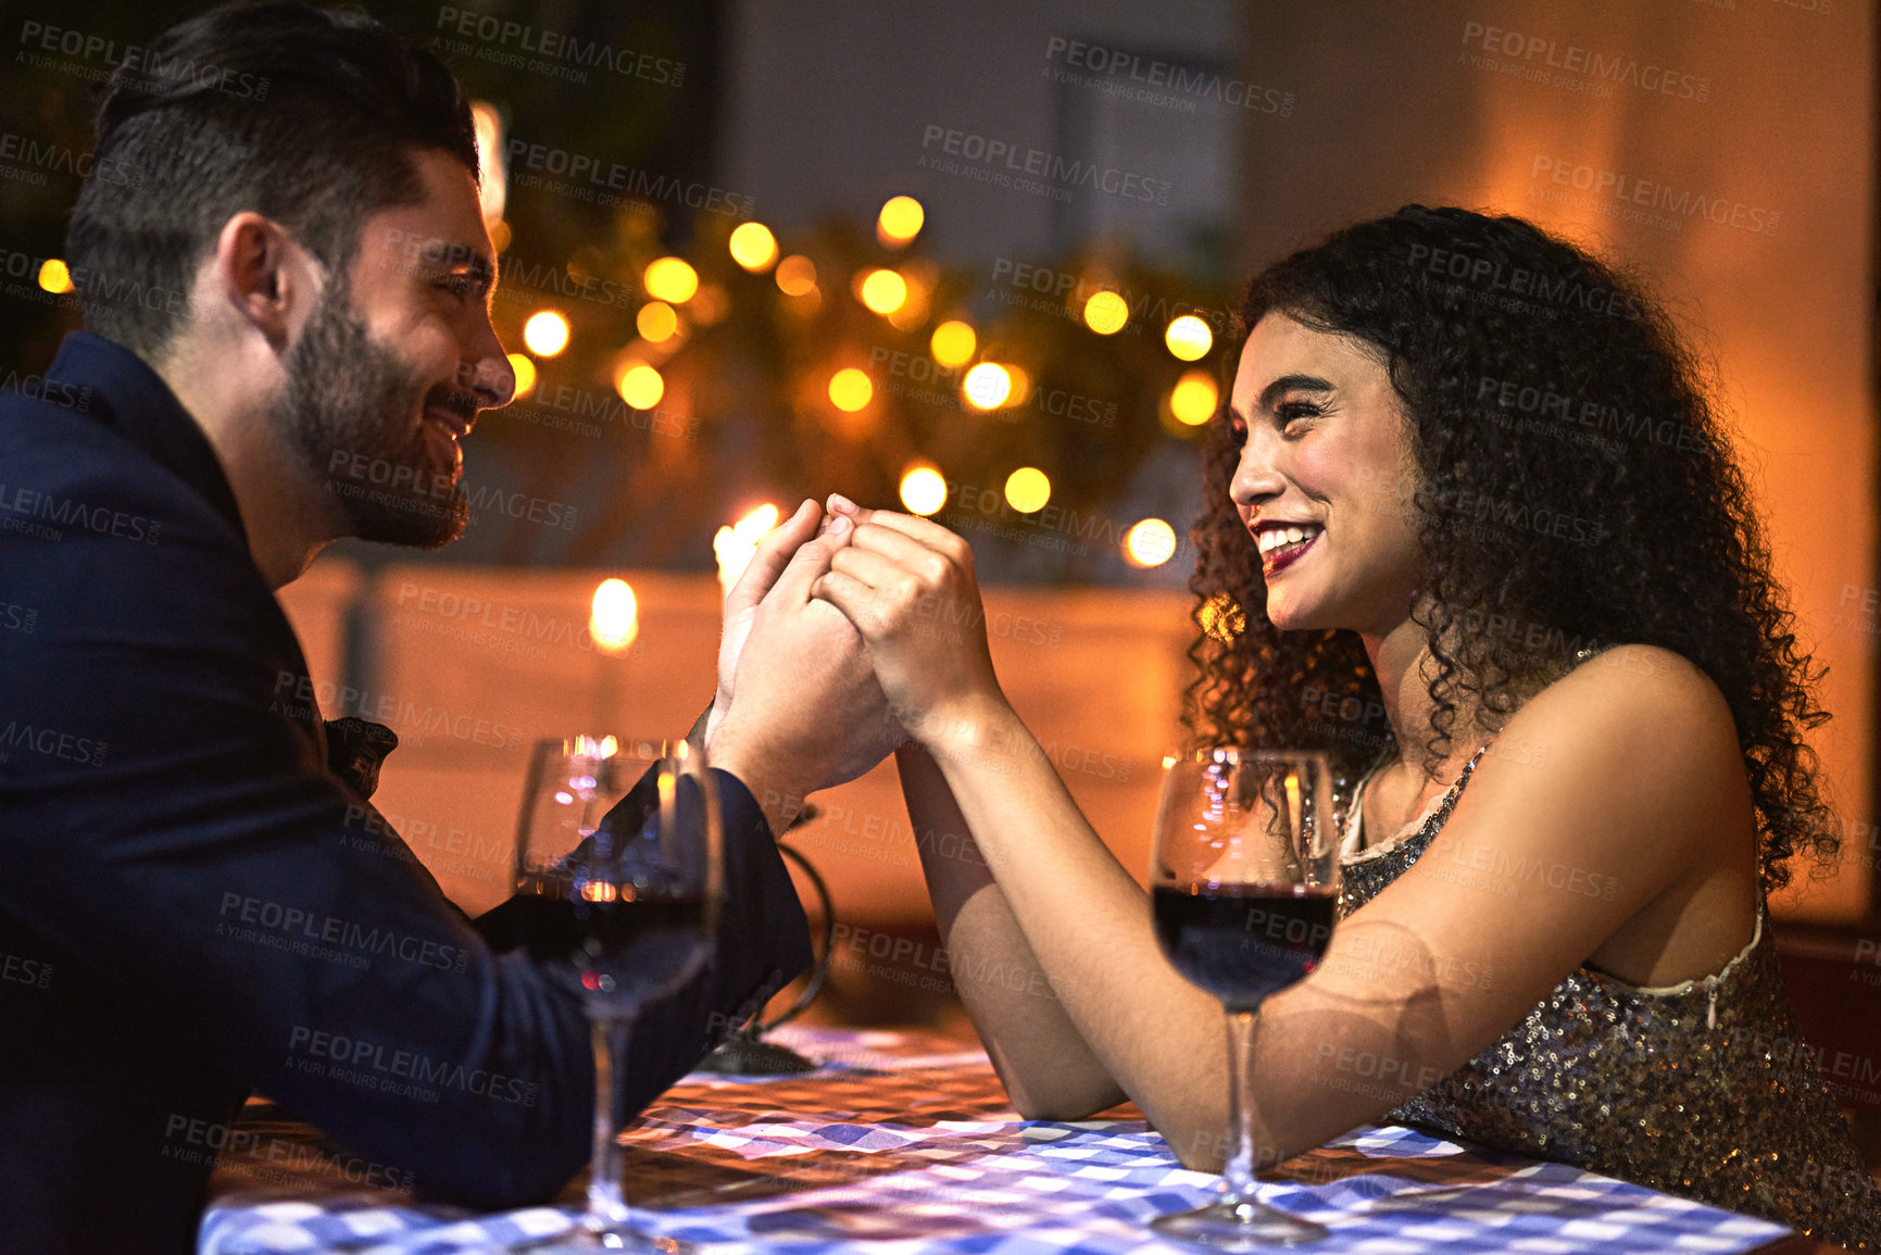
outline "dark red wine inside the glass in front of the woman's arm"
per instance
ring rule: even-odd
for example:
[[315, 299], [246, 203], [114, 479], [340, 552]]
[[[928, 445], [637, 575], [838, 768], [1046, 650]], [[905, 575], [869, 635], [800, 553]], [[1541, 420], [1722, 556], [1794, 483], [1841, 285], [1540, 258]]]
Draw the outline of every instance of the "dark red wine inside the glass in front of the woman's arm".
[[1305, 886], [1159, 886], [1157, 941], [1176, 971], [1223, 1001], [1253, 1010], [1305, 977], [1332, 941], [1330, 892]]

